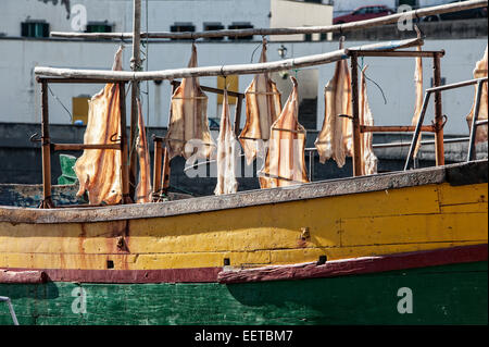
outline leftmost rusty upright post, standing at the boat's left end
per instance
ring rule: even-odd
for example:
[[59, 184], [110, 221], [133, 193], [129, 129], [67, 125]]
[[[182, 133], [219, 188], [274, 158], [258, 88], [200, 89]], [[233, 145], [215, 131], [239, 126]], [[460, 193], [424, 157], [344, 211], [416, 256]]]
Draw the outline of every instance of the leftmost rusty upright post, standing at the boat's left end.
[[48, 83], [41, 83], [41, 145], [42, 145], [42, 201], [41, 209], [52, 209], [54, 203], [51, 197], [51, 144], [49, 138], [49, 104]]

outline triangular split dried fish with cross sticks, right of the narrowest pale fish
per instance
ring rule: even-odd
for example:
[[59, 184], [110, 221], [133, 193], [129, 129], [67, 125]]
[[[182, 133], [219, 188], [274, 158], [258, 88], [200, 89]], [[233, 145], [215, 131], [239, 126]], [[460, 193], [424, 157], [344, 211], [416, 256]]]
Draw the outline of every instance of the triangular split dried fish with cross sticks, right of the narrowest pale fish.
[[296, 78], [290, 78], [293, 89], [280, 116], [272, 125], [265, 163], [259, 173], [262, 188], [309, 182], [304, 159], [305, 129], [298, 121], [298, 84]]

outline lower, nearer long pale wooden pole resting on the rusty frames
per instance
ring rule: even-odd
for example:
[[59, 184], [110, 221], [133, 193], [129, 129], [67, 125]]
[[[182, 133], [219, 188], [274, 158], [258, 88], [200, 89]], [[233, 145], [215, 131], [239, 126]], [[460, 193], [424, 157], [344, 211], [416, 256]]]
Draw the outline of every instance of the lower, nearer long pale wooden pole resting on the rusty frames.
[[[422, 46], [424, 41], [419, 38], [388, 41], [375, 45], [365, 45], [354, 47], [359, 49], [401, 49], [413, 46]], [[112, 79], [112, 80], [151, 80], [151, 79], [176, 79], [186, 77], [204, 77], [204, 76], [229, 76], [229, 75], [253, 75], [277, 71], [294, 70], [300, 67], [323, 65], [334, 63], [343, 59], [348, 59], [349, 49], [340, 49], [328, 53], [306, 55], [301, 58], [286, 59], [276, 62], [238, 64], [238, 65], [217, 65], [205, 67], [185, 67], [152, 72], [127, 72], [127, 71], [109, 71], [109, 70], [73, 70], [73, 69], [54, 69], [36, 66], [34, 72], [36, 75], [65, 78], [92, 78], [92, 79]]]

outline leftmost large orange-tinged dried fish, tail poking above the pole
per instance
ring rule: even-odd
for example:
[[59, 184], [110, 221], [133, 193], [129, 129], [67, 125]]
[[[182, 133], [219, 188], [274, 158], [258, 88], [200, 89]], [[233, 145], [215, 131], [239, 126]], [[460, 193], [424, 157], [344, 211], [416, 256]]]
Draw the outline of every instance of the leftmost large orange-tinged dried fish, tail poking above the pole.
[[[122, 70], [122, 47], [114, 57], [112, 70]], [[121, 137], [118, 84], [106, 84], [89, 101], [84, 144], [113, 144]], [[124, 90], [123, 90], [124, 92]], [[92, 205], [114, 205], [122, 200], [122, 153], [120, 150], [85, 150], [75, 163], [79, 181], [77, 196], [88, 193]]]

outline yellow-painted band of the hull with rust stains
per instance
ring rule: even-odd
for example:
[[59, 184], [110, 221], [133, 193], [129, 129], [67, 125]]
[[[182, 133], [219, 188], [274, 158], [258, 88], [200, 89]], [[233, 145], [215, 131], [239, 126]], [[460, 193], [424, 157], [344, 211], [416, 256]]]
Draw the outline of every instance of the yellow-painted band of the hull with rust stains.
[[126, 221], [0, 222], [0, 268], [258, 267], [485, 244], [487, 189], [444, 183]]

